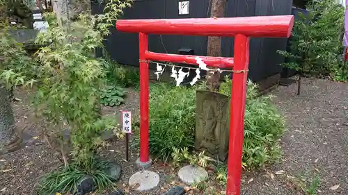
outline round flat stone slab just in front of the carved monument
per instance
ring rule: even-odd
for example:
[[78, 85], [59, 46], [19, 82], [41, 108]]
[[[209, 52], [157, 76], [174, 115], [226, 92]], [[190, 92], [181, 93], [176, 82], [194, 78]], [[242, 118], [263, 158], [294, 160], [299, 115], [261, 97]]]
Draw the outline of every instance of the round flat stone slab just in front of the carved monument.
[[208, 172], [202, 167], [187, 165], [186, 167], [182, 167], [177, 175], [182, 182], [186, 183], [187, 185], [192, 185], [193, 183], [199, 183], [206, 180], [208, 177]]

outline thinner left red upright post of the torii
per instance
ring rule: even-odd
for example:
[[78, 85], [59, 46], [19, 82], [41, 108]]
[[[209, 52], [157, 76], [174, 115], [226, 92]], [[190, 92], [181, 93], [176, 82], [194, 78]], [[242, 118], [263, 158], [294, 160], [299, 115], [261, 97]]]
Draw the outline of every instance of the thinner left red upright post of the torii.
[[140, 162], [149, 159], [149, 63], [145, 58], [148, 51], [148, 35], [139, 33], [140, 69]]

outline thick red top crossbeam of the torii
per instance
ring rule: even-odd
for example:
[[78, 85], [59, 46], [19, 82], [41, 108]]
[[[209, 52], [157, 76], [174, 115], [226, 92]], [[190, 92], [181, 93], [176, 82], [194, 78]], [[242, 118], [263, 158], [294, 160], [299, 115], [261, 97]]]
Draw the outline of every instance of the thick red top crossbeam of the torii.
[[294, 16], [189, 19], [119, 19], [118, 31], [162, 35], [289, 37]]

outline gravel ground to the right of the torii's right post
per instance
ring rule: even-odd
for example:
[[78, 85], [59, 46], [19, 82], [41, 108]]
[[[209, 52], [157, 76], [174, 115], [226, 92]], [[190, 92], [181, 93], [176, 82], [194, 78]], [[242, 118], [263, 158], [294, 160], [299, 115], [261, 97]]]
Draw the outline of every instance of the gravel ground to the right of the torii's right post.
[[287, 119], [287, 132], [282, 162], [267, 171], [285, 173], [274, 174], [274, 180], [265, 172], [251, 173], [248, 179], [254, 180], [244, 194], [306, 194], [303, 189], [315, 178], [317, 195], [348, 194], [348, 83], [311, 78], [302, 83], [300, 96], [296, 84], [271, 92]]

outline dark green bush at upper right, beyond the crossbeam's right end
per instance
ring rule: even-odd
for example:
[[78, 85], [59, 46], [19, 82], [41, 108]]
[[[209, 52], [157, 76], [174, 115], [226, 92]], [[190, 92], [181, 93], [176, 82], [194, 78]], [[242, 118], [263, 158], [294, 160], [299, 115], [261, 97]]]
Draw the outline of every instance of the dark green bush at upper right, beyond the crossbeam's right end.
[[300, 74], [332, 76], [342, 53], [344, 8], [334, 0], [310, 2], [308, 16], [301, 12], [292, 31], [290, 52], [278, 51], [289, 62], [283, 65]]

